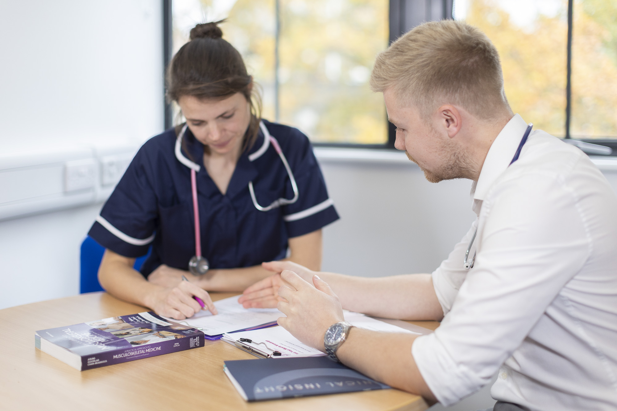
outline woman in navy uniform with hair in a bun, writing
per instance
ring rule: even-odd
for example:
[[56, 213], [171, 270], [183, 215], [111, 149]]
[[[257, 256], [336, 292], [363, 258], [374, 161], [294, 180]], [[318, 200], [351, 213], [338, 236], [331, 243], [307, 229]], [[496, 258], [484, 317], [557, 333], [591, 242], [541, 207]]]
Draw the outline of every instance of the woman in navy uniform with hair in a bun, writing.
[[[242, 291], [271, 275], [264, 261], [318, 271], [321, 228], [338, 215], [309, 139], [260, 119], [252, 77], [217, 23], [191, 30], [168, 67], [167, 94], [186, 124], [139, 149], [90, 229], [106, 248], [101, 285], [184, 319], [201, 309], [193, 296], [216, 312], [205, 290]], [[200, 255], [210, 269], [193, 275]]]

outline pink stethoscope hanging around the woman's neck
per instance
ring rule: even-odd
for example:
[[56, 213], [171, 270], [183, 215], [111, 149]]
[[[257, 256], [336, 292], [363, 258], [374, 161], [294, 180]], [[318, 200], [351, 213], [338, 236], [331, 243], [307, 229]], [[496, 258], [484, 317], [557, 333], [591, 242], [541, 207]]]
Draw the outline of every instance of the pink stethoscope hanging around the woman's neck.
[[[298, 186], [296, 185], [294, 173], [292, 173], [289, 163], [287, 162], [287, 158], [283, 154], [283, 150], [281, 150], [280, 145], [278, 145], [278, 141], [276, 141], [274, 137], [270, 136], [270, 132], [268, 132], [268, 129], [261, 121], [259, 123], [259, 127], [263, 132], [264, 144], [259, 150], [257, 150], [257, 152], [249, 155], [249, 160], [253, 161], [260, 157], [268, 149], [268, 145], [271, 144], [276, 150], [276, 153], [278, 153], [278, 157], [280, 157], [281, 161], [283, 161], [283, 165], [285, 166], [289, 176], [289, 181], [291, 181], [291, 188], [294, 190], [293, 198], [279, 198], [278, 200], [272, 201], [269, 206], [263, 207], [257, 203], [255, 190], [253, 189], [253, 182], [249, 181], [249, 192], [251, 193], [251, 200], [253, 201], [255, 208], [259, 211], [270, 211], [273, 208], [295, 203], [298, 200]], [[187, 128], [188, 126], [184, 124], [184, 127], [180, 132], [180, 136], [178, 136], [179, 141], [181, 141], [184, 137], [184, 133]], [[204, 275], [210, 269], [210, 262], [201, 254], [201, 226], [199, 224], [199, 204], [197, 203], [197, 173], [194, 168], [191, 168], [191, 192], [193, 193], [193, 216], [195, 224], [195, 255], [191, 258], [191, 261], [189, 261], [189, 271], [193, 275]]]

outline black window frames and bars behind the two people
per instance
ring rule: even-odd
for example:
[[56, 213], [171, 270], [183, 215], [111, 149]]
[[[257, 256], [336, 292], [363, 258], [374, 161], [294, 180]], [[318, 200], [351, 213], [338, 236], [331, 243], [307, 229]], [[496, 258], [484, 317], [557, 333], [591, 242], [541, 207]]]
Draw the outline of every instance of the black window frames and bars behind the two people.
[[[453, 1], [454, 0], [390, 0], [389, 1], [389, 44], [392, 44], [399, 36], [407, 33], [416, 25], [423, 22], [452, 19], [453, 18]], [[172, 0], [163, 0], [163, 63], [164, 68], [167, 68], [168, 63], [172, 59], [173, 47], [173, 22], [172, 22]], [[566, 52], [566, 121], [565, 121], [565, 137], [564, 139], [573, 139], [570, 134], [570, 123], [572, 113], [572, 35], [573, 35], [573, 14], [574, 0], [568, 0], [568, 38]], [[276, 27], [275, 27], [275, 71], [278, 72], [278, 45], [280, 40], [280, 0], [275, 0]], [[279, 116], [279, 84], [278, 76], [275, 76], [275, 120], [278, 121]], [[165, 129], [173, 126], [173, 111], [171, 104], [165, 99]], [[384, 144], [354, 144], [354, 143], [331, 143], [331, 142], [313, 142], [315, 147], [344, 147], [344, 148], [362, 148], [362, 149], [394, 149], [394, 141], [396, 132], [394, 124], [384, 118], [387, 127], [387, 142]], [[573, 139], [594, 144], [606, 145], [613, 149], [613, 156], [617, 156], [617, 139]], [[604, 156], [610, 157], [610, 156]]]

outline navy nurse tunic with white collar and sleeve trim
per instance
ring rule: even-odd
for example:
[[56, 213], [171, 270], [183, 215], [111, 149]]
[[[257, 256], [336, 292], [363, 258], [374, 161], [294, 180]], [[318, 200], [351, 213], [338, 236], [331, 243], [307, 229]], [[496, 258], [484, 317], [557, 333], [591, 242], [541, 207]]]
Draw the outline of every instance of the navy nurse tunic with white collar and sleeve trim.
[[188, 270], [195, 254], [194, 168], [202, 254], [210, 268], [250, 267], [284, 258], [288, 238], [321, 229], [339, 216], [309, 139], [296, 128], [265, 120], [263, 125], [278, 141], [296, 178], [295, 203], [259, 211], [251, 200], [249, 181], [260, 206], [294, 197], [283, 161], [262, 130], [253, 147], [242, 153], [223, 195], [204, 167], [204, 145], [189, 129], [183, 144], [169, 129], [139, 149], [88, 234], [131, 258], [146, 254], [152, 245], [141, 267], [145, 277], [160, 264]]

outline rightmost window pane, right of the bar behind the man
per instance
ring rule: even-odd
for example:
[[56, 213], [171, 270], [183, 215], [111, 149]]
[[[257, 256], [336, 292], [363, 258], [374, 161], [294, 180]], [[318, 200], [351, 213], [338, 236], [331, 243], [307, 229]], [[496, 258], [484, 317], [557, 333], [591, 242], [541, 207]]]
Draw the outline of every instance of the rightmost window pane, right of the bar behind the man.
[[617, 1], [574, 1], [574, 138], [617, 137]]

